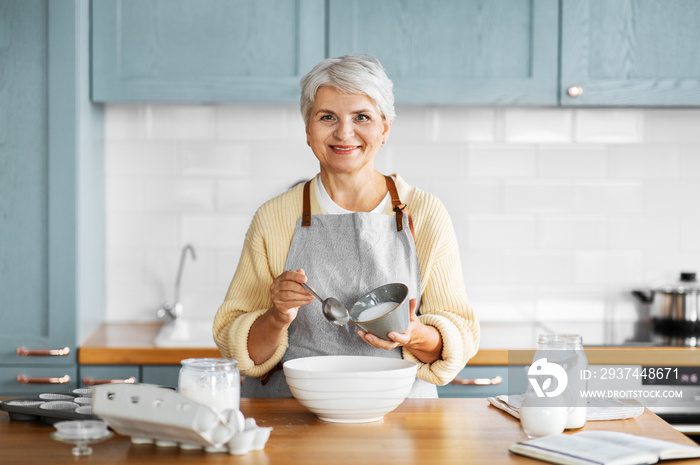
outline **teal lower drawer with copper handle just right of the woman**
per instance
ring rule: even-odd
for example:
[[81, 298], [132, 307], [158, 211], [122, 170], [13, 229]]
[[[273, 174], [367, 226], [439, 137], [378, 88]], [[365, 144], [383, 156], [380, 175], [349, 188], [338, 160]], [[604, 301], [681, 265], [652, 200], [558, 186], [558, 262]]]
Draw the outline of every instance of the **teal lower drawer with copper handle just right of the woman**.
[[525, 392], [525, 367], [468, 366], [445, 386], [438, 386], [438, 397], [495, 397]]

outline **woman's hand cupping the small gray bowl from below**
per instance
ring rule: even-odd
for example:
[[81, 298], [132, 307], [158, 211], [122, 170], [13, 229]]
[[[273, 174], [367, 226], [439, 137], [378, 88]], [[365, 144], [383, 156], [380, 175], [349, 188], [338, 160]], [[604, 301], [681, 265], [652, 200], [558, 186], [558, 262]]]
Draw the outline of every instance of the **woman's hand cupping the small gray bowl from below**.
[[408, 328], [403, 333], [390, 332], [387, 336], [391, 341], [358, 329], [357, 334], [368, 344], [378, 349], [391, 350], [397, 347], [406, 347], [424, 363], [432, 363], [442, 356], [442, 335], [433, 326], [424, 325], [416, 315], [418, 301], [411, 299], [409, 302], [410, 320]]

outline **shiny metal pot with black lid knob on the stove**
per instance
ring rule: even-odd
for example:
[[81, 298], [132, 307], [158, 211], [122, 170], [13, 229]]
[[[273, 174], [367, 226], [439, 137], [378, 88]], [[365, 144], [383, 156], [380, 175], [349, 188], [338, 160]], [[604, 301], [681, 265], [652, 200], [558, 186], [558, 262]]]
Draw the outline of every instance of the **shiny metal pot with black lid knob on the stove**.
[[683, 272], [678, 281], [664, 286], [635, 289], [632, 294], [649, 305], [656, 342], [675, 346], [700, 345], [700, 283], [694, 272]]

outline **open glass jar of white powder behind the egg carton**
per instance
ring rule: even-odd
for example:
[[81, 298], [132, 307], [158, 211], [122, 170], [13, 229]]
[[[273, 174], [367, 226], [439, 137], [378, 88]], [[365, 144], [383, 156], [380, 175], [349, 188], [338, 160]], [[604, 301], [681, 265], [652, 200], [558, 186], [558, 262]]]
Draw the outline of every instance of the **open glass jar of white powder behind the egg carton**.
[[227, 358], [188, 358], [183, 360], [178, 390], [184, 396], [212, 407], [217, 412], [238, 410], [241, 377], [237, 361]]

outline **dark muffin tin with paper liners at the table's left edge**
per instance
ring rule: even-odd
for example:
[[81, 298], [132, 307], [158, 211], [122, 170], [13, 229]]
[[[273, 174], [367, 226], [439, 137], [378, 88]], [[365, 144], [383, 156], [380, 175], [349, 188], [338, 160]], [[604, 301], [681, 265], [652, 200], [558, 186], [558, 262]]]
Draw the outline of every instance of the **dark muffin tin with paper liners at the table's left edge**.
[[6, 411], [10, 420], [41, 420], [49, 425], [63, 420], [99, 420], [92, 412], [89, 388], [0, 401], [0, 410]]

